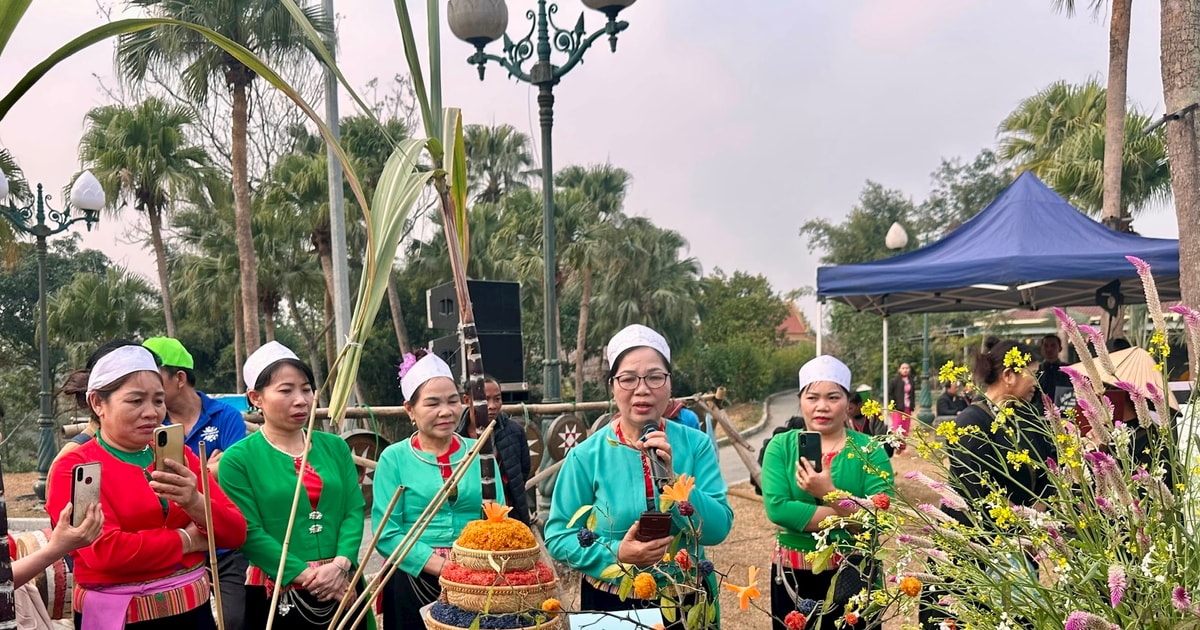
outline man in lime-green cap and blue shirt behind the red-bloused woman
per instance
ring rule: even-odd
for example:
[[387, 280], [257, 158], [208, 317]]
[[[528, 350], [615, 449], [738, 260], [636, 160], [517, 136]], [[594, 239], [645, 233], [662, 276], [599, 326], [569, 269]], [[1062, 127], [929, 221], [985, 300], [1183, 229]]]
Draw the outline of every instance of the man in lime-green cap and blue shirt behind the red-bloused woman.
[[[184, 425], [185, 444], [200, 455], [205, 443], [208, 467], [217, 478], [221, 455], [235, 442], [246, 437], [241, 412], [227, 403], [210, 398], [196, 389], [196, 361], [179, 340], [151, 337], [143, 346], [162, 359], [162, 388], [166, 392], [167, 419], [163, 424]], [[221, 608], [227, 630], [242, 630], [246, 608], [246, 569], [248, 562], [236, 550], [217, 550], [217, 571], [221, 577]]]

